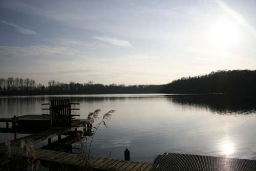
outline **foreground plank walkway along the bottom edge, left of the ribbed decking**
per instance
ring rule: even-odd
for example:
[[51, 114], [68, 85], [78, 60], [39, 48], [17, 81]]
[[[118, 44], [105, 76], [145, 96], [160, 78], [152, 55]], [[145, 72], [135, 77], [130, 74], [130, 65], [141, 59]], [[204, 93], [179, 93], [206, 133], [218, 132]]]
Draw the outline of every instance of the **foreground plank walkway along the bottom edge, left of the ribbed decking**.
[[[4, 148], [0, 146], [0, 153], [4, 153]], [[19, 147], [12, 147], [12, 152], [16, 155], [20, 154]], [[101, 157], [90, 157], [81, 154], [56, 152], [47, 149], [35, 149], [35, 157], [40, 161], [75, 165], [81, 167], [90, 167], [101, 170], [125, 170], [125, 171], [149, 171], [153, 163], [142, 163], [126, 160], [116, 160]]]

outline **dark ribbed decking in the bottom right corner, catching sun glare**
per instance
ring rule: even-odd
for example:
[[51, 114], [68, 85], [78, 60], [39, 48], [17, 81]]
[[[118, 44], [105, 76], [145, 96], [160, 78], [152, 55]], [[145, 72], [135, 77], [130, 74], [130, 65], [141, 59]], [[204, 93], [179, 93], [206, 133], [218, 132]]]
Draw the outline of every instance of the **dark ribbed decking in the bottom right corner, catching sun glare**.
[[[145, 168], [147, 170], [147, 168]], [[176, 153], [164, 153], [153, 165], [152, 171], [174, 170], [174, 171], [239, 171], [256, 170], [256, 160], [234, 159], [225, 157], [199, 156]]]

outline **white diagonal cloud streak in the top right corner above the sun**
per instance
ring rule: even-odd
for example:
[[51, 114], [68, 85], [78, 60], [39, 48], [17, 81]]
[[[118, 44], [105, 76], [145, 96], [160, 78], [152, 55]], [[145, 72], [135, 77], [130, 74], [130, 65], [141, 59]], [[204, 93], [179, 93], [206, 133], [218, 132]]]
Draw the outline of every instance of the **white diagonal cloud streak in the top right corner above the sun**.
[[236, 19], [237, 22], [245, 27], [251, 34], [253, 34], [256, 37], [256, 30], [249, 25], [246, 20], [244, 19], [243, 15], [238, 13], [237, 11], [231, 9], [230, 7], [227, 6], [223, 1], [216, 1], [216, 3], [223, 9], [229, 16], [232, 18]]

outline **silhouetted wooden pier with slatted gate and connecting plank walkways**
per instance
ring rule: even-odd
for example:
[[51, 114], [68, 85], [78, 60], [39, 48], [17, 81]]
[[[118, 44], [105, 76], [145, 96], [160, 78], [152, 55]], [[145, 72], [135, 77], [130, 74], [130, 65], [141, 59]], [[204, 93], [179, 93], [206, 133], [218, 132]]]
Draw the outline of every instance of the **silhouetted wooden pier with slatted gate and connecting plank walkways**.
[[[77, 127], [80, 127], [88, 123], [85, 119], [74, 119], [72, 110], [79, 110], [78, 108], [72, 108], [69, 100], [52, 100], [51, 103], [44, 103], [42, 110], [49, 111], [49, 115], [24, 115], [12, 118], [0, 118], [0, 122], [6, 122], [7, 131], [14, 133], [15, 138], [11, 141], [12, 155], [27, 158], [22, 152], [20, 144], [23, 140], [32, 140], [32, 142], [38, 143], [40, 141], [48, 140], [48, 144], [35, 148], [35, 154], [33, 157], [37, 158], [41, 162], [46, 163], [59, 163], [65, 165], [74, 165], [78, 167], [90, 167], [93, 170], [131, 170], [131, 171], [148, 171], [152, 168], [153, 163], [141, 163], [128, 160], [108, 159], [101, 157], [86, 157], [81, 154], [65, 153], [59, 150], [61, 146], [70, 146], [71, 144], [79, 141], [83, 138], [82, 131], [77, 131]], [[9, 122], [12, 123], [12, 129], [9, 128]], [[18, 129], [17, 129], [17, 126]], [[20, 132], [24, 127], [29, 130], [34, 130], [39, 127], [43, 131], [35, 131], [32, 135], [28, 135], [22, 138], [16, 139], [16, 133]], [[32, 129], [31, 129], [32, 128]], [[28, 130], [27, 130], [28, 131]], [[25, 133], [28, 133], [25, 131]], [[91, 136], [90, 129], [82, 133], [86, 136]], [[61, 139], [61, 135], [67, 137]], [[58, 137], [58, 140], [52, 142], [52, 137]], [[0, 144], [0, 154], [6, 153], [6, 146], [4, 143]], [[68, 150], [70, 152], [70, 150]]]

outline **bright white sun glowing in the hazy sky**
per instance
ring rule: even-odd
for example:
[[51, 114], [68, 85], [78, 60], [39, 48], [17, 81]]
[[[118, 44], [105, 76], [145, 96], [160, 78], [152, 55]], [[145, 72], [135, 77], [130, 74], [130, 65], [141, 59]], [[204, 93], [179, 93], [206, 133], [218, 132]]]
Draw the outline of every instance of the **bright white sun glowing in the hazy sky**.
[[238, 41], [238, 27], [228, 19], [217, 20], [212, 23], [208, 38], [210, 44], [221, 49], [226, 49]]

